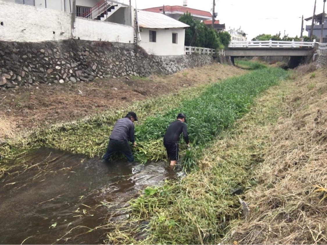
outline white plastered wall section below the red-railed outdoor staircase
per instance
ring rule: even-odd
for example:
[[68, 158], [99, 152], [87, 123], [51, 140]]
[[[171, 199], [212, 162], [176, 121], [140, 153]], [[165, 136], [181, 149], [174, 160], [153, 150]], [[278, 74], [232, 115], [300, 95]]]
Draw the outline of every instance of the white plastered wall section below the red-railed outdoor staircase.
[[128, 25], [77, 17], [75, 35], [76, 38], [82, 40], [133, 43], [134, 28]]

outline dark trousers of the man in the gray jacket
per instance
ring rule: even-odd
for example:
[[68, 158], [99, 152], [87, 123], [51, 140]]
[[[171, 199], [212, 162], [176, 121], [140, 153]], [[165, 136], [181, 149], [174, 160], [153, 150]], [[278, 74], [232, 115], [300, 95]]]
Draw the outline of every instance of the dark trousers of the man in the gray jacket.
[[109, 159], [115, 152], [122, 153], [128, 161], [134, 161], [132, 150], [130, 149], [127, 140], [109, 139], [107, 152], [103, 155], [103, 160], [109, 161]]

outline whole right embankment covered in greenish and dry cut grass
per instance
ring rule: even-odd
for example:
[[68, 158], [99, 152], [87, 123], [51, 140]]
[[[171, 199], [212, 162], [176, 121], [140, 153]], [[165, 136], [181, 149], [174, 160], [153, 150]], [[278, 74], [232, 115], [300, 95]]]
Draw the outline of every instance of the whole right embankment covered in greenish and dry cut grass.
[[[203, 150], [198, 171], [180, 182], [147, 188], [132, 200], [129, 220], [108, 233], [107, 242], [326, 242], [327, 119], [321, 108], [327, 90], [325, 82], [308, 82], [310, 77], [269, 89]], [[236, 187], [249, 190], [241, 196], [250, 207], [246, 219], [238, 197], [231, 194]]]

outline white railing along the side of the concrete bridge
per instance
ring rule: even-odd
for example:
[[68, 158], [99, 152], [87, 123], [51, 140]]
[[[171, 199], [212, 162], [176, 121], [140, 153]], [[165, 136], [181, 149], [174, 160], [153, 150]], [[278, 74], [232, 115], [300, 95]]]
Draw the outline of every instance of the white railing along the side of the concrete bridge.
[[231, 41], [228, 45], [229, 48], [302, 48], [302, 47], [315, 47], [316, 40], [313, 42], [296, 42], [296, 41]]

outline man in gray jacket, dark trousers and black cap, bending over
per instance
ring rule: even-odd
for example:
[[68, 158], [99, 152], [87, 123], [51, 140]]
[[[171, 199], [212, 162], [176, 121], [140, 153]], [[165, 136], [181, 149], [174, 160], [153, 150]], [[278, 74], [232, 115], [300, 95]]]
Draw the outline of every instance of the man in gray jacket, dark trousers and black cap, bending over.
[[108, 161], [115, 152], [121, 152], [128, 161], [134, 161], [128, 143], [130, 141], [133, 145], [137, 145], [134, 140], [134, 121], [138, 121], [135, 112], [129, 112], [124, 118], [117, 120], [109, 137], [107, 152], [103, 160]]

